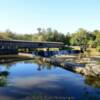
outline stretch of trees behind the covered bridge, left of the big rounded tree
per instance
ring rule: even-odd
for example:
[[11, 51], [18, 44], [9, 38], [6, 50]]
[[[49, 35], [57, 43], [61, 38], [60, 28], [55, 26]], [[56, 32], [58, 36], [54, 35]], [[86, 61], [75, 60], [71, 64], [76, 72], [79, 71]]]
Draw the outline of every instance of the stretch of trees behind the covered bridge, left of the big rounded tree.
[[37, 33], [31, 34], [17, 34], [10, 30], [5, 32], [0, 32], [0, 39], [8, 40], [25, 40], [25, 41], [53, 41], [53, 42], [63, 42], [70, 45], [70, 34], [63, 34], [57, 30], [52, 30], [51, 28], [41, 29], [37, 28]]

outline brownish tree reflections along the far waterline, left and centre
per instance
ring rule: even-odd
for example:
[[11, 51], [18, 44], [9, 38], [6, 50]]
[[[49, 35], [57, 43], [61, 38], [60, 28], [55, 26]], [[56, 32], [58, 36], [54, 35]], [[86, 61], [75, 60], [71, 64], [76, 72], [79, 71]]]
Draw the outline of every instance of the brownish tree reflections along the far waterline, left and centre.
[[[45, 58], [46, 59], [46, 58]], [[7, 69], [9, 69], [10, 67], [12, 67], [13, 65], [16, 65], [17, 62], [24, 62], [26, 64], [37, 64], [38, 65], [38, 68], [37, 70], [42, 70], [42, 69], [51, 69], [51, 65], [49, 63], [46, 63], [45, 62], [45, 59], [42, 58], [42, 57], [37, 57], [33, 60], [24, 60], [24, 59], [21, 59], [21, 60], [18, 60], [18, 58], [14, 58], [14, 59], [11, 59], [11, 58], [0, 58], [0, 64], [2, 64], [3, 66], [5, 66]], [[2, 62], [3, 61], [3, 62]]]

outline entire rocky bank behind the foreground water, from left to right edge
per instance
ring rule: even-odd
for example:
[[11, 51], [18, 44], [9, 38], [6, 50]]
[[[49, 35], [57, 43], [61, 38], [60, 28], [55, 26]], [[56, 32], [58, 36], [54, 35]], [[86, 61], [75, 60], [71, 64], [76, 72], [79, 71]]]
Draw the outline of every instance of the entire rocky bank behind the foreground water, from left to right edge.
[[[9, 58], [9, 59], [8, 59]], [[43, 58], [33, 56], [32, 54], [20, 53], [19, 55], [0, 56], [0, 63], [7, 63], [12, 61], [39, 59], [44, 63], [50, 63], [64, 69], [80, 73], [85, 76], [93, 76], [100, 78], [100, 58], [78, 58], [78, 56], [59, 56], [51, 58]], [[97, 63], [99, 61], [99, 63]]]

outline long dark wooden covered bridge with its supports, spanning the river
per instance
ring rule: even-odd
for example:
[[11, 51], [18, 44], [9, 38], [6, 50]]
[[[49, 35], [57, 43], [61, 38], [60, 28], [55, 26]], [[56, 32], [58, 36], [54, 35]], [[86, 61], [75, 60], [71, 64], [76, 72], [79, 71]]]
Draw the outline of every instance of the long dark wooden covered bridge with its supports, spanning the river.
[[32, 42], [0, 39], [0, 54], [17, 53], [19, 49], [32, 51], [36, 48], [62, 48], [63, 46], [64, 44], [62, 42]]

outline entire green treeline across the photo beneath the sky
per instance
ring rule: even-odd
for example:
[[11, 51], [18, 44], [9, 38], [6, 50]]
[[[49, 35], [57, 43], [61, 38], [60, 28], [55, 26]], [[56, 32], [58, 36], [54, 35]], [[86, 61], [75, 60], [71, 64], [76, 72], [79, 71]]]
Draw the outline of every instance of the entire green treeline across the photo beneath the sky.
[[16, 34], [7, 30], [0, 32], [0, 39], [9, 40], [26, 40], [26, 41], [54, 41], [63, 42], [66, 45], [82, 46], [97, 48], [100, 50], [100, 31], [87, 31], [83, 28], [74, 33], [61, 33], [51, 28], [37, 28], [37, 33], [33, 34]]

